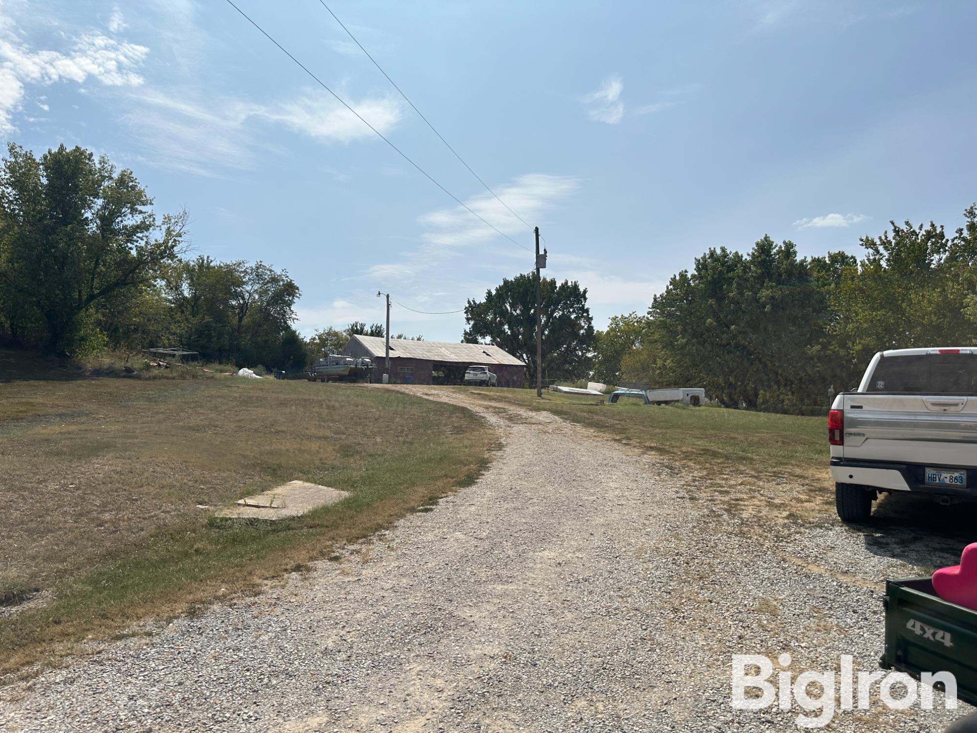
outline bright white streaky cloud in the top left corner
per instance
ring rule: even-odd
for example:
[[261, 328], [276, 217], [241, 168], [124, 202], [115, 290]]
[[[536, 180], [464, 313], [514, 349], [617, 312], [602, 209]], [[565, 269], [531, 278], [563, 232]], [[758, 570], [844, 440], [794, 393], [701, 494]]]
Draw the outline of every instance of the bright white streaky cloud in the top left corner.
[[22, 107], [26, 84], [46, 86], [60, 81], [80, 84], [89, 77], [106, 86], [143, 83], [136, 69], [149, 54], [146, 46], [119, 43], [102, 33], [86, 33], [75, 39], [67, 54], [33, 51], [9, 28], [5, 30], [5, 37], [0, 38], [0, 133], [15, 129], [12, 117]]

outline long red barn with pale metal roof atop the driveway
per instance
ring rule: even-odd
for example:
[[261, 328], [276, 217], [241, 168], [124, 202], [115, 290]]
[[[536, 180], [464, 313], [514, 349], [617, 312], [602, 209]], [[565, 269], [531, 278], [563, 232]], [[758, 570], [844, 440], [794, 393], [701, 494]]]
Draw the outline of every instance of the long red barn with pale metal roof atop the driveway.
[[[343, 353], [376, 365], [376, 381], [385, 371], [384, 339], [353, 336]], [[486, 365], [498, 377], [499, 387], [526, 385], [526, 365], [497, 346], [452, 344], [445, 341], [390, 339], [390, 381], [397, 384], [461, 384], [465, 369]]]

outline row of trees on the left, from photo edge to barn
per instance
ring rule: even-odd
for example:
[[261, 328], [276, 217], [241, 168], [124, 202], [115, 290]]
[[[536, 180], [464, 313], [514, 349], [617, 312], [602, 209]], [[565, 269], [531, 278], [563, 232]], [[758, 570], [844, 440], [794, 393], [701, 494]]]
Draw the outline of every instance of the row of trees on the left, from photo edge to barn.
[[157, 217], [133, 172], [105, 156], [11, 144], [0, 165], [0, 336], [71, 357], [180, 346], [300, 369], [354, 333], [384, 334], [354, 322], [303, 339], [286, 271], [191, 257], [187, 224], [186, 212]]

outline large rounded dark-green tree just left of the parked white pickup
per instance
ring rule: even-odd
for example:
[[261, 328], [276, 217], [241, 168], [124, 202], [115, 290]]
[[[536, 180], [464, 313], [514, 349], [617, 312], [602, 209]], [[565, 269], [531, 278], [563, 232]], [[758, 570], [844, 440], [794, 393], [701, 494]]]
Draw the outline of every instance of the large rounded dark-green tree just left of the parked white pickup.
[[727, 407], [802, 410], [824, 402], [811, 349], [826, 336], [828, 293], [790, 241], [759, 239], [696, 259], [653, 301], [658, 386], [703, 387]]

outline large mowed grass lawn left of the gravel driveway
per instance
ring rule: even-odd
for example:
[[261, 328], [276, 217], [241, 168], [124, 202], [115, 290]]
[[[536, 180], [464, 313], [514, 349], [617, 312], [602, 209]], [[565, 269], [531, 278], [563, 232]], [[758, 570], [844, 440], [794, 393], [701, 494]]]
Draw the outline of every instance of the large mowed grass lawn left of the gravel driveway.
[[[328, 557], [470, 483], [493, 442], [468, 410], [379, 387], [92, 378], [0, 350], [0, 670]], [[352, 496], [212, 519], [295, 479]]]

